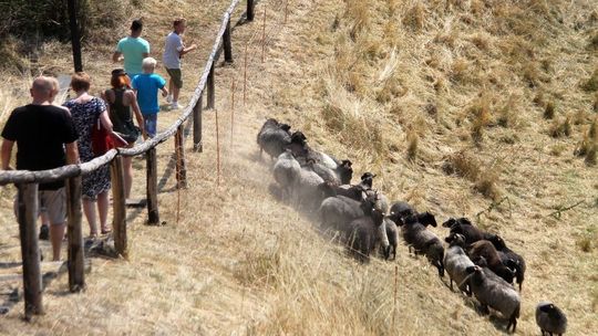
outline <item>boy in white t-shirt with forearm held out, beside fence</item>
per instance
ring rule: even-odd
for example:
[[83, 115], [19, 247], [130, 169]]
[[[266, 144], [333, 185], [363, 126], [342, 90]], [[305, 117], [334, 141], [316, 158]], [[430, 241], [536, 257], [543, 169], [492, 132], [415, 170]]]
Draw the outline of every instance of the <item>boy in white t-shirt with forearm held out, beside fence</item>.
[[186, 20], [183, 18], [176, 19], [173, 22], [174, 31], [166, 36], [166, 43], [164, 45], [163, 62], [166, 72], [171, 76], [168, 82], [168, 92], [172, 92], [172, 96], [168, 95], [166, 101], [172, 103], [172, 109], [179, 108], [178, 106], [178, 93], [183, 87], [183, 76], [181, 73], [181, 57], [184, 54], [197, 49], [197, 45], [192, 44], [185, 46], [181, 35], [185, 32]]

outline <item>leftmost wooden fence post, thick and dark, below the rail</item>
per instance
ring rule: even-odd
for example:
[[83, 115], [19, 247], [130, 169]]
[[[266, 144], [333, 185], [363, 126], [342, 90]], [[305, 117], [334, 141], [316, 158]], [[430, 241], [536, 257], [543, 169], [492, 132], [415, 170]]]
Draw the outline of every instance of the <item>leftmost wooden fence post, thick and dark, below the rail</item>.
[[23, 259], [25, 319], [43, 314], [40, 248], [38, 245], [38, 185], [18, 185], [18, 220]]

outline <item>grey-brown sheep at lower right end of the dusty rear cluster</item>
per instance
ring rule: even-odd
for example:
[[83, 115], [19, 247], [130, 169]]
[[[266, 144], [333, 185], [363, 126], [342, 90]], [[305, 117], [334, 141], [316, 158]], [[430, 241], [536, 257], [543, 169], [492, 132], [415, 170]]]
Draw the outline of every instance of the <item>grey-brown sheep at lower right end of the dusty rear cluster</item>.
[[[384, 213], [382, 213], [381, 209], [374, 207], [370, 214], [360, 217], [349, 224], [351, 228], [349, 246], [359, 261], [368, 262], [371, 251], [383, 240], [381, 237], [381, 229], [384, 228], [383, 223]], [[383, 250], [388, 251], [388, 248], [383, 246]], [[388, 253], [384, 253], [384, 256], [388, 259]]]

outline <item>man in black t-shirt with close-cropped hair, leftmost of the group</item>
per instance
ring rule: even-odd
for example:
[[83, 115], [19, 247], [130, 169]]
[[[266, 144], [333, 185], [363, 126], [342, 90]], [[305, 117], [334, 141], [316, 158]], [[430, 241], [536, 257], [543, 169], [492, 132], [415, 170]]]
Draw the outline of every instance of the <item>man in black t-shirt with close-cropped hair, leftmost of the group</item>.
[[[16, 108], [2, 130], [0, 157], [2, 169], [9, 170], [12, 147], [17, 143], [17, 169], [45, 170], [79, 162], [78, 134], [71, 115], [62, 107], [51, 104], [53, 85], [49, 77], [33, 81], [33, 102]], [[39, 201], [50, 217], [50, 240], [53, 260], [60, 260], [62, 239], [66, 222], [66, 196], [64, 181], [40, 183]]]

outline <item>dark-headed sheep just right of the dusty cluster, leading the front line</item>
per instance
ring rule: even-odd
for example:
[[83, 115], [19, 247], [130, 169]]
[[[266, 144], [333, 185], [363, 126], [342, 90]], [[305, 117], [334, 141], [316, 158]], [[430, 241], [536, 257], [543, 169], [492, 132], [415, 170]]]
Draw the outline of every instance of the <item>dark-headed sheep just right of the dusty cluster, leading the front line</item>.
[[414, 248], [415, 254], [425, 254], [432, 265], [439, 269], [439, 275], [444, 276], [444, 246], [441, 240], [432, 231], [426, 230], [427, 224], [436, 225], [434, 216], [429, 212], [400, 218], [398, 222], [401, 225], [403, 240]]

